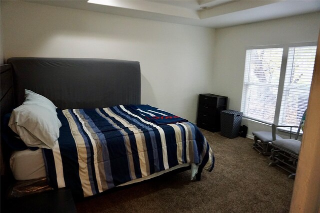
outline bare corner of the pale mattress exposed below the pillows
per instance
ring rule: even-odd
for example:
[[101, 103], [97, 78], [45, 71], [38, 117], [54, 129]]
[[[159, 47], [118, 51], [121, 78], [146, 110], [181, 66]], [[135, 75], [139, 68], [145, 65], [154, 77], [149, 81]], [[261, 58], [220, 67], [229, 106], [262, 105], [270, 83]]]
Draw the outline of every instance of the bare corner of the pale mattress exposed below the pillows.
[[17, 181], [45, 177], [42, 149], [14, 151], [10, 157], [10, 168]]

